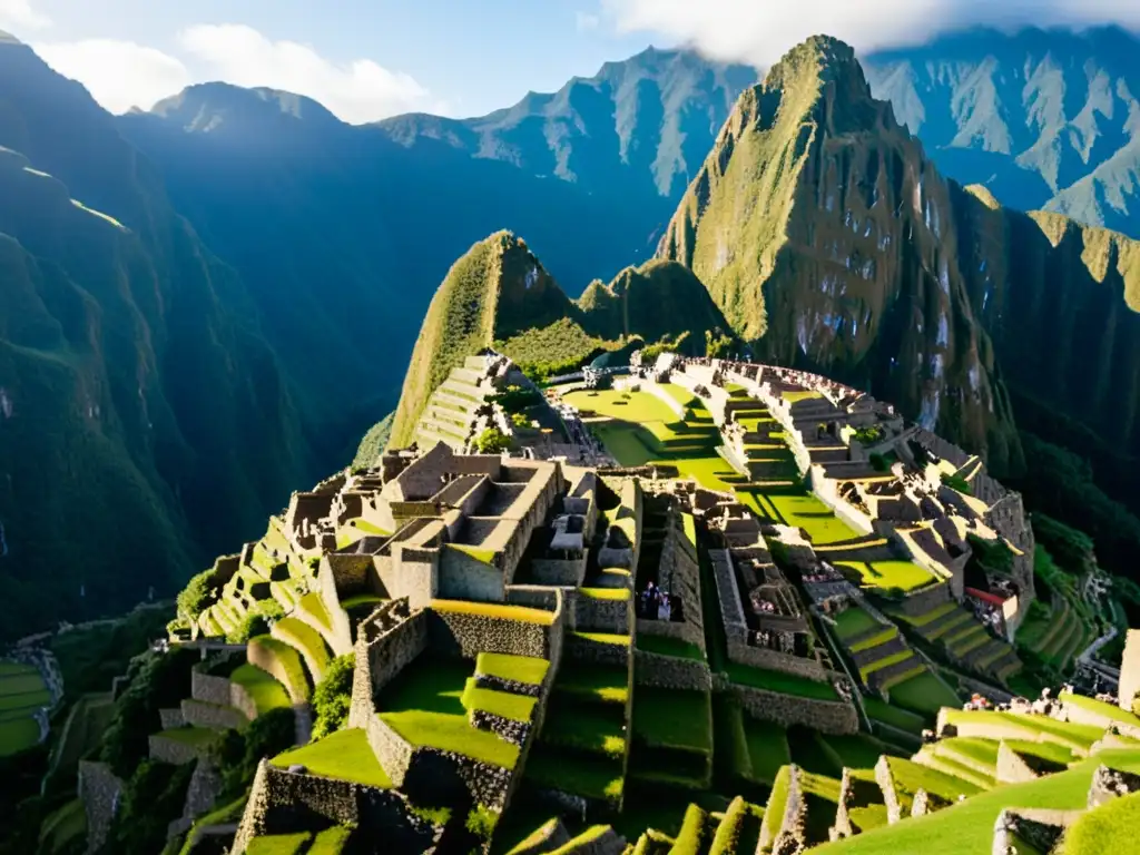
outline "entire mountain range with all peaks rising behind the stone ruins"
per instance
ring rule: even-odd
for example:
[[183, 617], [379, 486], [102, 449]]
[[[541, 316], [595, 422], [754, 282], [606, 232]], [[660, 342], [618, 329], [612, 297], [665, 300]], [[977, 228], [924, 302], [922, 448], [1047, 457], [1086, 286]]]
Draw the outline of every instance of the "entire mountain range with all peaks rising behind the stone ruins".
[[[1076, 212], [1061, 197], [1086, 181], [1108, 202], [1085, 219], [1140, 231], [1118, 169], [1134, 42], [955, 36], [868, 57], [865, 76], [813, 42], [756, 88], [748, 66], [651, 49], [480, 119], [348, 125], [221, 83], [115, 117], [0, 39], [0, 269], [18, 283], [0, 310], [6, 632], [172, 589], [348, 463], [401, 382], [438, 373], [434, 345], [405, 367], [473, 245], [534, 259], [556, 290], [529, 321], [547, 334], [723, 324], [874, 389], [999, 472], [1024, 466], [1017, 423], [1037, 407], [1119, 487], [1140, 435], [1134, 244], [997, 202]], [[750, 168], [758, 184], [740, 180]], [[483, 239], [504, 228], [526, 244]], [[598, 308], [693, 283], [711, 301], [633, 324]], [[516, 293], [494, 288], [495, 306]], [[488, 342], [531, 332], [487, 317]], [[50, 616], [21, 608], [42, 586]]]

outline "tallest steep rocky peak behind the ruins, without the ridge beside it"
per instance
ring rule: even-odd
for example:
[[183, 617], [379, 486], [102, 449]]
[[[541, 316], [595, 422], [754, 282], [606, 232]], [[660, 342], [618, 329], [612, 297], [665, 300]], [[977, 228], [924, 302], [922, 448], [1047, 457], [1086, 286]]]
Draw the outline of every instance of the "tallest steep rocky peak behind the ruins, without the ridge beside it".
[[850, 48], [816, 38], [741, 96], [658, 255], [757, 356], [869, 386], [1000, 472], [1020, 450], [951, 194]]

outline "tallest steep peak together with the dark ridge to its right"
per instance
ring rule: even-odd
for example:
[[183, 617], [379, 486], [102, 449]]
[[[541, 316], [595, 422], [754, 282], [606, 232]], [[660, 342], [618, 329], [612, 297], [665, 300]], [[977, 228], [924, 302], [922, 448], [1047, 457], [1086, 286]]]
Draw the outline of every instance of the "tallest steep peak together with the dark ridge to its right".
[[658, 254], [763, 357], [865, 384], [996, 471], [1021, 466], [1007, 390], [1140, 449], [1140, 245], [943, 179], [833, 39], [741, 96]]

